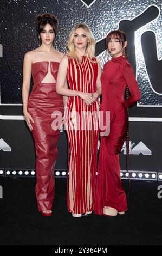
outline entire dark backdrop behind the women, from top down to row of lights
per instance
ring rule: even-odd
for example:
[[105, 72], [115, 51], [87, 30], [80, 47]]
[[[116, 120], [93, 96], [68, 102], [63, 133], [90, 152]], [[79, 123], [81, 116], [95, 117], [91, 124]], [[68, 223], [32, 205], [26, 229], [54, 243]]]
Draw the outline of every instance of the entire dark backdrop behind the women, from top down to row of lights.
[[[66, 52], [72, 27], [78, 22], [86, 22], [95, 37], [96, 56], [100, 58], [102, 66], [108, 59], [105, 46], [107, 33], [118, 28], [125, 31], [129, 62], [133, 65], [142, 96], [138, 105], [130, 111], [132, 154], [129, 169], [161, 172], [161, 6], [161, 0], [1, 1], [0, 139], [3, 141], [0, 141], [0, 167], [35, 167], [33, 139], [22, 119], [22, 66], [25, 52], [39, 45], [35, 16], [49, 12], [60, 20], [54, 42], [56, 49]], [[136, 121], [133, 119], [135, 117]], [[150, 119], [146, 121], [146, 118]], [[56, 169], [66, 169], [67, 139], [64, 132], [60, 135]], [[5, 148], [4, 142], [10, 149]], [[124, 149], [120, 157], [122, 169], [125, 169]]]

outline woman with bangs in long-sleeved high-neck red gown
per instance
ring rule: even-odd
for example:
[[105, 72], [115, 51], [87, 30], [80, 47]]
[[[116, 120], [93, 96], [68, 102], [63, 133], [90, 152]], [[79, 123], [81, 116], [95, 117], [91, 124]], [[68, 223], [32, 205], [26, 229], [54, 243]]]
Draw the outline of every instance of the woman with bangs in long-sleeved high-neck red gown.
[[[126, 194], [121, 184], [119, 154], [128, 129], [127, 108], [140, 99], [138, 84], [132, 66], [127, 60], [127, 40], [124, 32], [117, 30], [107, 35], [108, 61], [101, 75], [103, 115], [110, 112], [106, 136], [101, 137], [95, 213], [116, 216], [127, 211]], [[129, 99], [124, 101], [126, 87]]]

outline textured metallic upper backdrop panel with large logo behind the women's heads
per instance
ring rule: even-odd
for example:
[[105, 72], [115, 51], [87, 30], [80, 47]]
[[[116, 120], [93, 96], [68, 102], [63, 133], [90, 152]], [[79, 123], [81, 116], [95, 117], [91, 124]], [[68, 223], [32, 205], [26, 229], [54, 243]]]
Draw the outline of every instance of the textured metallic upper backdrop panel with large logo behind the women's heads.
[[25, 52], [39, 45], [35, 16], [50, 12], [60, 20], [54, 42], [57, 50], [66, 52], [68, 34], [72, 27], [77, 22], [86, 22], [97, 42], [96, 55], [100, 57], [102, 66], [107, 61], [107, 33], [112, 29], [123, 29], [129, 43], [129, 61], [136, 72], [142, 95], [139, 106], [161, 106], [161, 4], [161, 0], [2, 1], [1, 104], [22, 103], [23, 57]]

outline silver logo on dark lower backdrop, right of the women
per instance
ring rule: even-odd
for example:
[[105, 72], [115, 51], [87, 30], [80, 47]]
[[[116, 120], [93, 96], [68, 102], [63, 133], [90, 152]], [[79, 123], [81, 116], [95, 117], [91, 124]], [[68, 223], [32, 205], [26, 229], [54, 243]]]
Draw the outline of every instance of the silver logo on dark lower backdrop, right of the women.
[[[143, 143], [143, 142], [139, 142], [135, 147], [134, 147], [135, 143], [132, 143], [132, 141], [129, 141], [129, 154], [130, 155], [139, 155], [140, 153], [142, 153], [143, 155], [151, 155], [152, 152], [149, 148], [147, 148], [147, 146]], [[134, 148], [133, 148], [134, 147]], [[123, 151], [124, 155], [127, 154], [127, 150], [126, 150], [126, 141], [124, 142], [124, 145], [121, 149], [121, 152]]]

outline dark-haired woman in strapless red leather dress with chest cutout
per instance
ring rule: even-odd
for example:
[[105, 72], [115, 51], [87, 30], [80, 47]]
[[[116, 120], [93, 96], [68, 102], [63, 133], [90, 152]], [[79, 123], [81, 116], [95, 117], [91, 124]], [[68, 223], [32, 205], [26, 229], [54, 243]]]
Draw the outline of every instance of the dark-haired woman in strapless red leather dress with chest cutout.
[[[60, 127], [55, 127], [53, 122], [58, 117], [61, 122], [63, 114], [63, 97], [56, 93], [57, 71], [63, 57], [63, 54], [53, 47], [57, 23], [56, 17], [51, 14], [36, 17], [41, 46], [27, 52], [23, 64], [23, 113], [35, 141], [35, 191], [38, 210], [44, 216], [52, 214], [54, 201], [54, 166]], [[29, 96], [31, 74], [34, 85]]]

